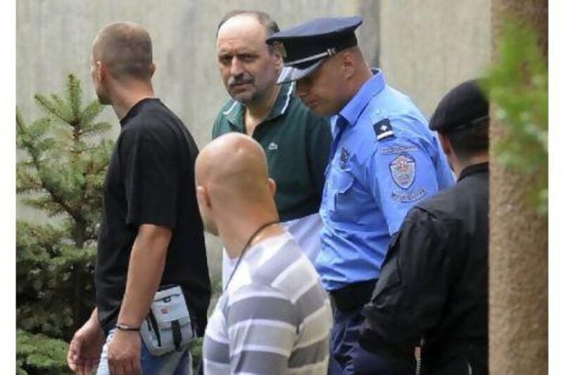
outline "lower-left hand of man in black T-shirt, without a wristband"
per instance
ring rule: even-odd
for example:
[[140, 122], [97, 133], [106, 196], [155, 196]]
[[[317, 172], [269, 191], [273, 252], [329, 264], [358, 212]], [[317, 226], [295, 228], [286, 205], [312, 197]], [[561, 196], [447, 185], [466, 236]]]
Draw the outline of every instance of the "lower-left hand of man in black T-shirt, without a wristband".
[[106, 341], [103, 336], [98, 314], [94, 314], [70, 341], [66, 362], [68, 368], [80, 375], [89, 375], [100, 361], [101, 348]]

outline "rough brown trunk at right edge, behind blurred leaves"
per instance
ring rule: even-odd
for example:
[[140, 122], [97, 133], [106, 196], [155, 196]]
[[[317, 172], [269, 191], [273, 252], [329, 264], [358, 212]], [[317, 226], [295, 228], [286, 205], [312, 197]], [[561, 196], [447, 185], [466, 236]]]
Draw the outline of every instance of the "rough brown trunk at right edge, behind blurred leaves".
[[[547, 56], [548, 0], [492, 0], [493, 59], [510, 16], [531, 23]], [[526, 197], [534, 177], [506, 170], [494, 157], [502, 125], [491, 120], [489, 369], [548, 374], [548, 220]]]

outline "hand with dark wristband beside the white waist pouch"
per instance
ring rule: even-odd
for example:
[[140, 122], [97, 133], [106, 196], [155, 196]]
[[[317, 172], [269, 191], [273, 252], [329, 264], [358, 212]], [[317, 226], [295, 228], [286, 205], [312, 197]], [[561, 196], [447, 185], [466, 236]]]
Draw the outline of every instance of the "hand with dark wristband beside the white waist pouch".
[[115, 331], [108, 345], [112, 375], [141, 374], [141, 335], [136, 331]]

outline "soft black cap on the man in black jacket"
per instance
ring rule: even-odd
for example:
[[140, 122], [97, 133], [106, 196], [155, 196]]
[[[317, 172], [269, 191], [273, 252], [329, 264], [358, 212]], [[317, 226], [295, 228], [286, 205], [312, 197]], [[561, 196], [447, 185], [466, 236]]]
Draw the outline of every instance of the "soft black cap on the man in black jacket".
[[446, 94], [429, 123], [432, 130], [447, 133], [472, 127], [488, 118], [488, 100], [477, 80], [469, 80]]

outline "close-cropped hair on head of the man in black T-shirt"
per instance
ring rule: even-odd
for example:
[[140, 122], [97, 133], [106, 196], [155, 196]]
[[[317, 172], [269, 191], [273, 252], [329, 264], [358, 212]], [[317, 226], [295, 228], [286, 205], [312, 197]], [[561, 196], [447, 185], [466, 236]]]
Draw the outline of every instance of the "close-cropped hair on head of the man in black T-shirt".
[[94, 40], [92, 58], [101, 61], [119, 79], [150, 80], [153, 74], [153, 47], [148, 32], [132, 22], [112, 23]]

